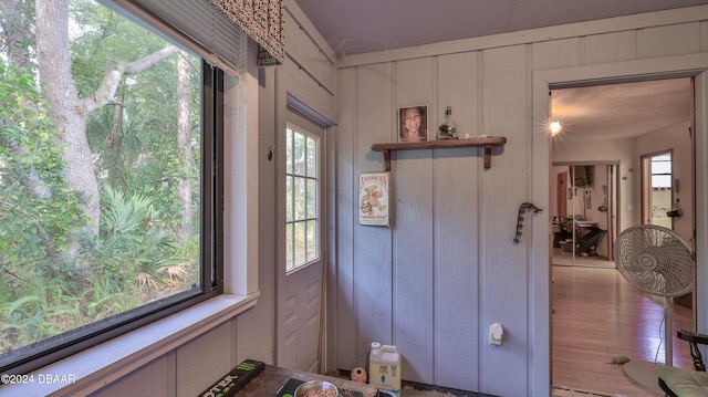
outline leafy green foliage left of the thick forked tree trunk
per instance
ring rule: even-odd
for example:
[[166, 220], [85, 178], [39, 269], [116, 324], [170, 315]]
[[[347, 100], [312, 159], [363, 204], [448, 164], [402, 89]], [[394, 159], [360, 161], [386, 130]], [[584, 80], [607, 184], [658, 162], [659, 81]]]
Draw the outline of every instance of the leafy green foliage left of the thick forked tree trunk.
[[[66, 247], [85, 209], [63, 181], [62, 146], [32, 74], [0, 62], [0, 103], [7, 105], [0, 106], [0, 264], [12, 274], [54, 276], [61, 268], [56, 252]], [[48, 194], [32, 191], [28, 175], [35, 175]]]

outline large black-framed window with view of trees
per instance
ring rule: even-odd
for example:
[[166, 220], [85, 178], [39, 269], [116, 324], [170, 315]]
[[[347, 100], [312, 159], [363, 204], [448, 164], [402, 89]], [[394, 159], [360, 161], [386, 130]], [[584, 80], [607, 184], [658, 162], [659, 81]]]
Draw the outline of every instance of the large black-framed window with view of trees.
[[0, 373], [14, 374], [221, 289], [222, 72], [94, 1], [30, 3], [0, 6]]

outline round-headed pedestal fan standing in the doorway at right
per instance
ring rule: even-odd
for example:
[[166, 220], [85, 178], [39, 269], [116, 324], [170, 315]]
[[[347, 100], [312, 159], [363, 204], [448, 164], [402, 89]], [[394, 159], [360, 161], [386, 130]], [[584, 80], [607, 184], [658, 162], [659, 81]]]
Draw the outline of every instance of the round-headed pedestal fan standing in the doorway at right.
[[[665, 362], [670, 366], [674, 297], [691, 292], [694, 285], [694, 253], [690, 245], [670, 229], [641, 224], [620, 233], [614, 245], [614, 257], [617, 270], [632, 285], [666, 299]], [[649, 388], [655, 389], [654, 366], [654, 363], [642, 365], [629, 362], [623, 370], [639, 384], [649, 384]]]

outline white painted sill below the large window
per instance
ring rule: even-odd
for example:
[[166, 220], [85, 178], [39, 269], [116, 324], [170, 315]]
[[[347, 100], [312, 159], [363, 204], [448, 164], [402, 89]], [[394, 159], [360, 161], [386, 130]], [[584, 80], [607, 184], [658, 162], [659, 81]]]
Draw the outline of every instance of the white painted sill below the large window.
[[[259, 293], [223, 294], [121, 335], [34, 373], [33, 383], [0, 386], [0, 396], [91, 394], [256, 305]], [[46, 382], [56, 379], [52, 383]]]

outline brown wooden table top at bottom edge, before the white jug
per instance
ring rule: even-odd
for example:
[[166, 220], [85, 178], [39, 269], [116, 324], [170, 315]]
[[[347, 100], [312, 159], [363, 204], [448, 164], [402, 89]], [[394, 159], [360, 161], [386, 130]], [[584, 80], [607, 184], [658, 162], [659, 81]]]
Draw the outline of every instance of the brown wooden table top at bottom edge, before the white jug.
[[320, 379], [331, 382], [341, 389], [348, 389], [361, 391], [363, 397], [376, 397], [378, 396], [378, 388], [376, 386], [362, 384], [354, 380], [342, 379], [332, 376], [319, 375], [308, 373], [303, 370], [288, 369], [267, 365], [263, 370], [258, 374], [251, 382], [249, 382], [243, 389], [241, 389], [238, 397], [270, 397], [277, 396], [278, 390], [288, 382], [288, 379], [294, 378], [300, 380]]

